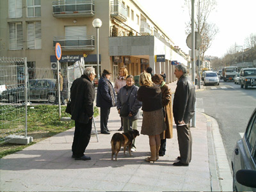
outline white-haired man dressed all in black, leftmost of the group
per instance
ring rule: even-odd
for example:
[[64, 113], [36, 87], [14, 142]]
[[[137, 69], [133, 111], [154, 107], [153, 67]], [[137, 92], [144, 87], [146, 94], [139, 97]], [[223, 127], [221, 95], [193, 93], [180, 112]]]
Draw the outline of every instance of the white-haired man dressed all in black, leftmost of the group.
[[91, 159], [91, 157], [84, 155], [84, 151], [91, 138], [93, 101], [95, 97], [92, 82], [95, 75], [93, 67], [86, 67], [84, 74], [72, 83], [70, 90], [71, 119], [75, 120], [72, 157], [76, 160], [87, 161]]

